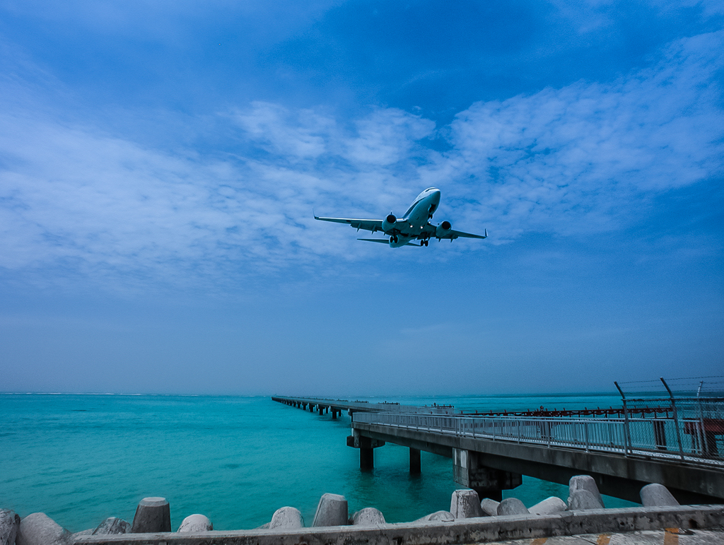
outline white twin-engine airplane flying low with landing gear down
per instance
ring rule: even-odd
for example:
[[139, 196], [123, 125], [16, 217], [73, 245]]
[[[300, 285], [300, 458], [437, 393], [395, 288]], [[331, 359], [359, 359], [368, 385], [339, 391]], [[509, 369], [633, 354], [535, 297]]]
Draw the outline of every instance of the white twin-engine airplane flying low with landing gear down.
[[[488, 230], [485, 229], [485, 235], [471, 235], [471, 233], [465, 233], [462, 231], [455, 231], [452, 229], [450, 221], [443, 221], [439, 225], [433, 225], [430, 223], [432, 214], [437, 210], [437, 206], [440, 203], [440, 190], [436, 187], [428, 187], [422, 193], [420, 193], [415, 201], [412, 203], [408, 211], [405, 212], [403, 217], [397, 219], [397, 217], [390, 212], [390, 215], [385, 219], [348, 219], [348, 218], [321, 218], [314, 216], [314, 219], [320, 221], [334, 221], [338, 224], [348, 224], [352, 227], [365, 229], [371, 231], [373, 234], [376, 231], [382, 232], [388, 235], [387, 238], [358, 238], [357, 240], [364, 240], [366, 242], [382, 242], [383, 244], [389, 244], [390, 248], [400, 248], [402, 246], [427, 246], [430, 243], [431, 238], [437, 238], [442, 240], [444, 238], [450, 239], [450, 242], [458, 237], [467, 238], [487, 238]], [[419, 244], [412, 242], [413, 240], [419, 240]]]

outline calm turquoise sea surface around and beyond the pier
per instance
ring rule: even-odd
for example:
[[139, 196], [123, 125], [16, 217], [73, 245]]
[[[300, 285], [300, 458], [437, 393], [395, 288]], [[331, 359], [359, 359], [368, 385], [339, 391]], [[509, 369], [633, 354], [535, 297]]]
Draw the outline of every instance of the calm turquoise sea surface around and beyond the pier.
[[[616, 396], [387, 397], [456, 409], [575, 409], [620, 405]], [[388, 522], [450, 509], [452, 460], [422, 453], [408, 473], [408, 449], [375, 450], [372, 473], [345, 446], [349, 418], [333, 421], [269, 397], [0, 394], [0, 508], [42, 511], [70, 531], [117, 516], [132, 520], [143, 497], [171, 504], [172, 526], [192, 513], [216, 530], [256, 528], [274, 510], [297, 507], [311, 524], [324, 492], [344, 494], [350, 513], [377, 507]], [[568, 489], [523, 478], [504, 493], [526, 506]], [[607, 507], [633, 505], [604, 497]]]

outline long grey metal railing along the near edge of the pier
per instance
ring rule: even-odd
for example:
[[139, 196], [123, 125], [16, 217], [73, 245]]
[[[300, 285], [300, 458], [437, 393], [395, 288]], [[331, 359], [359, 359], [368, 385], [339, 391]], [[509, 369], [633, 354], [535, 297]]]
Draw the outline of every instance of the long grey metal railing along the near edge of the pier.
[[[353, 423], [395, 426], [492, 441], [660, 457], [721, 465], [703, 418], [529, 418], [355, 413]], [[682, 438], [691, 437], [691, 441]]]

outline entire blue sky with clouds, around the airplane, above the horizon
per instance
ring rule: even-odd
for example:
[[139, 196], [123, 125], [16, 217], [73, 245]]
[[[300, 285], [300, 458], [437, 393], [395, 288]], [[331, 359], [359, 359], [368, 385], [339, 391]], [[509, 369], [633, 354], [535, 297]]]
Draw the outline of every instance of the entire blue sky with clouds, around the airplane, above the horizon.
[[[1, 391], [724, 368], [718, 1], [0, 1]], [[392, 250], [311, 218], [480, 240]]]

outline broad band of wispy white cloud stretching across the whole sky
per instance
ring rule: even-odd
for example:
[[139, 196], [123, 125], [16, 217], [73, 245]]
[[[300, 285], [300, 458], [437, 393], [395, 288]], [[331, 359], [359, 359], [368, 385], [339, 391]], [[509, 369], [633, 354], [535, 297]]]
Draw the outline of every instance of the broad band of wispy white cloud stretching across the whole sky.
[[[255, 102], [219, 114], [243, 150], [226, 155], [152, 148], [4, 80], [37, 107], [0, 114], [0, 266], [181, 279], [362, 258], [375, 250], [311, 208], [382, 216], [429, 185], [456, 227], [498, 242], [620, 229], [652, 195], [723, 174], [723, 36], [673, 43], [613, 83], [475, 103], [437, 130], [399, 109], [345, 121]], [[450, 151], [428, 145], [441, 136]]]

